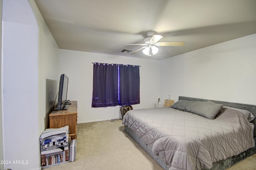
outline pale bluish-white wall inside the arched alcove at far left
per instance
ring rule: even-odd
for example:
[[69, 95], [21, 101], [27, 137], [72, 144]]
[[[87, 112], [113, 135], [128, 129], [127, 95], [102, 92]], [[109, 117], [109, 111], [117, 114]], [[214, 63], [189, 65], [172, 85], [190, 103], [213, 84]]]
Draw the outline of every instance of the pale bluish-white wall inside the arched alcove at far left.
[[[11, 161], [4, 168], [36, 170], [38, 27], [27, 0], [3, 0], [2, 21], [3, 146], [4, 160]], [[13, 164], [15, 160], [24, 164]]]

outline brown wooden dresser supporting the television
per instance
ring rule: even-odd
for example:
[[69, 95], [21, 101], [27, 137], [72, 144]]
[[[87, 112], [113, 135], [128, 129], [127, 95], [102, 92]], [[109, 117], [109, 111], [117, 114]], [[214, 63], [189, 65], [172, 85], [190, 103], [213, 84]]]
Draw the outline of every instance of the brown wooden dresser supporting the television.
[[49, 114], [50, 128], [69, 126], [71, 139], [77, 138], [77, 101], [71, 101], [68, 110], [54, 110]]

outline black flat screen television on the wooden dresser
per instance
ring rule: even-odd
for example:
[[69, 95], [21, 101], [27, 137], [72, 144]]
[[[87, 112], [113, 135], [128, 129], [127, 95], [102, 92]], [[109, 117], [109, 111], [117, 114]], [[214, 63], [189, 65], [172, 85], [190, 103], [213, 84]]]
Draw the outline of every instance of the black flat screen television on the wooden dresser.
[[58, 103], [54, 110], [67, 110], [70, 101], [67, 100], [68, 95], [68, 76], [65, 74], [60, 75], [60, 86], [58, 92]]

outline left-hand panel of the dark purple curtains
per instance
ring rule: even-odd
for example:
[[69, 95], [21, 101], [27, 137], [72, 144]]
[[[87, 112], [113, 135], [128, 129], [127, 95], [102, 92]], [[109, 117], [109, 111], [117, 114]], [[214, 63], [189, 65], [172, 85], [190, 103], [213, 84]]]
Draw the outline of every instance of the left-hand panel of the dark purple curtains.
[[92, 107], [118, 105], [118, 64], [93, 64]]

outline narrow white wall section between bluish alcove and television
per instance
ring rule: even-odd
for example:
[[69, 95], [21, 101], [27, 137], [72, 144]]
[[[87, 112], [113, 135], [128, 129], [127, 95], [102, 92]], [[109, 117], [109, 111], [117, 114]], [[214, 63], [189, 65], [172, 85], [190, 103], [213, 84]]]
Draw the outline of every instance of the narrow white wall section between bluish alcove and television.
[[[47, 27], [34, 0], [30, 0], [30, 5], [38, 24], [38, 64], [39, 64], [39, 133], [49, 127], [45, 127], [48, 121], [46, 110], [46, 79], [59, 81], [59, 48], [52, 33]], [[56, 86], [58, 89], [58, 86]], [[52, 94], [55, 97], [55, 94]], [[55, 98], [54, 98], [55, 99]]]

